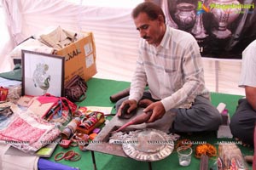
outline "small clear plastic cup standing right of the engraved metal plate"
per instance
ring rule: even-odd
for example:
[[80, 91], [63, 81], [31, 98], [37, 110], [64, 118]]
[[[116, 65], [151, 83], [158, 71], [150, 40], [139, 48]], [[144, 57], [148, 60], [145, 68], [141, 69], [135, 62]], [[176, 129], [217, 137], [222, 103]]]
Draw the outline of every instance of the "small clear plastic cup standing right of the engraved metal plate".
[[188, 146], [180, 146], [177, 148], [178, 163], [180, 166], [189, 166], [191, 161], [192, 149]]

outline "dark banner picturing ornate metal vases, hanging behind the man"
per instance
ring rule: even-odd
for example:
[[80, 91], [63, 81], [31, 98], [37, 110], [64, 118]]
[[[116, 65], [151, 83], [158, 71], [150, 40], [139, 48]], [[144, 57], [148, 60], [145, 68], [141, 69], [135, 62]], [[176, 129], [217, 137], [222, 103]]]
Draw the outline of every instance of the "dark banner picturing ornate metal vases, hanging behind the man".
[[256, 39], [256, 0], [163, 0], [166, 24], [191, 33], [201, 55], [241, 59]]

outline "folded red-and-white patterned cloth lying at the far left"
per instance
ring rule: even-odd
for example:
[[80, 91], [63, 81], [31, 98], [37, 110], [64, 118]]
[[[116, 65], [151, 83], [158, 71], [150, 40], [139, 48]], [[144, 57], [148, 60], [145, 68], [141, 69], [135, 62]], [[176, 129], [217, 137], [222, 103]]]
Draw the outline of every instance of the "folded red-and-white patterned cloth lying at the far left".
[[55, 140], [60, 130], [32, 112], [22, 111], [8, 127], [0, 131], [0, 139], [25, 152], [34, 152]]

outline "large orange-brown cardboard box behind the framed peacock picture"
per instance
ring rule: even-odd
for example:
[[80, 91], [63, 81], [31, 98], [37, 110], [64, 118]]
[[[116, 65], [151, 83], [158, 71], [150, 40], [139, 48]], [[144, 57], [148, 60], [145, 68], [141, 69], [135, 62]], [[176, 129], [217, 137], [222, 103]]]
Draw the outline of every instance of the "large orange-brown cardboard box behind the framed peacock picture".
[[96, 74], [96, 46], [92, 32], [84, 32], [85, 37], [62, 48], [57, 55], [65, 57], [64, 83], [79, 75], [85, 81]]

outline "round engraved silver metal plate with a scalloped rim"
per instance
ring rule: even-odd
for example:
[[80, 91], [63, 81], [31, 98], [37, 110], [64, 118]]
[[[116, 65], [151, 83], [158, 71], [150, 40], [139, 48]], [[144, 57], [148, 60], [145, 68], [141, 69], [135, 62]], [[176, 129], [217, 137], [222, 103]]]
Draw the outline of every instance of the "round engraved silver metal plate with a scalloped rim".
[[134, 131], [122, 144], [127, 156], [137, 161], [159, 161], [172, 153], [173, 137], [153, 128]]

